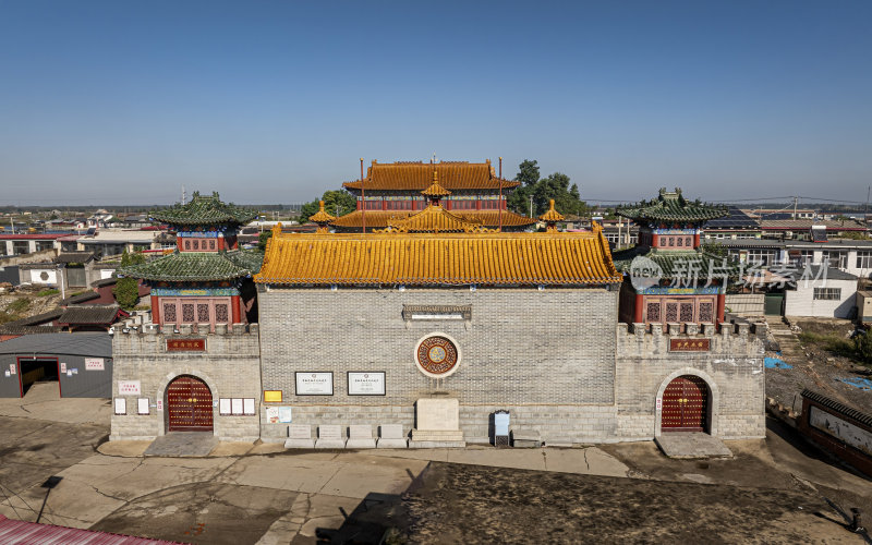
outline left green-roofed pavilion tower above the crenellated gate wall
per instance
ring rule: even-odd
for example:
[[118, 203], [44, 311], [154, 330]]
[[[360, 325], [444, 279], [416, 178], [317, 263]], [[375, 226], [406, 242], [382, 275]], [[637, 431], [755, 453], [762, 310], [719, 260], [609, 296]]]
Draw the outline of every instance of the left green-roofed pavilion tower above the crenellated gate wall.
[[257, 322], [251, 278], [263, 256], [241, 252], [237, 234], [256, 217], [253, 210], [222, 203], [218, 193], [152, 215], [175, 231], [175, 252], [119, 270], [152, 287], [152, 320], [159, 325], [191, 324], [215, 330], [216, 324]]

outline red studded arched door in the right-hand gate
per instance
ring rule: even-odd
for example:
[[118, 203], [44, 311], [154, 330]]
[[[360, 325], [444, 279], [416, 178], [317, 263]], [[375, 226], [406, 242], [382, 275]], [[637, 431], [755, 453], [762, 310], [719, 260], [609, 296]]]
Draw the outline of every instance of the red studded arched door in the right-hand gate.
[[683, 375], [663, 392], [661, 429], [664, 432], [706, 432], [708, 385], [693, 375]]

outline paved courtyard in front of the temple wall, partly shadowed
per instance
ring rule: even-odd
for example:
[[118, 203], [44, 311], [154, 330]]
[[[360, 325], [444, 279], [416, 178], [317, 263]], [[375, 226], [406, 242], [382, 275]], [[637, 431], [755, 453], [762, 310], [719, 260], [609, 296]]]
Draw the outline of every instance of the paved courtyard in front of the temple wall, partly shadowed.
[[[864, 543], [872, 482], [794, 445], [728, 441], [671, 460], [653, 443], [572, 449], [286, 451], [219, 444], [199, 458], [102, 443], [105, 400], [0, 400], [0, 513], [187, 543]], [[39, 396], [44, 396], [45, 399]], [[64, 409], [66, 401], [71, 409]], [[73, 407], [74, 405], [74, 407]], [[57, 417], [66, 422], [51, 422]], [[865, 541], [868, 543], [868, 541]]]

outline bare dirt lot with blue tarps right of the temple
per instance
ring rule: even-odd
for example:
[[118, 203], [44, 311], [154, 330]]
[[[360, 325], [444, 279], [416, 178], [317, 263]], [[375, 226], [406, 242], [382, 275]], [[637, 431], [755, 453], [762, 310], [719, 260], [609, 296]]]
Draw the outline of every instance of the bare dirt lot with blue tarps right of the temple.
[[[798, 320], [795, 325], [802, 332], [837, 335], [843, 338], [847, 338], [853, 330], [853, 325], [848, 320]], [[811, 342], [803, 342], [801, 346], [809, 354], [807, 358], [783, 358], [792, 368], [766, 370], [767, 397], [799, 413], [802, 408], [800, 392], [809, 388], [859, 411], [872, 412], [872, 389], [857, 388], [839, 380], [872, 379], [872, 368], [849, 358], [833, 354]], [[767, 352], [766, 355], [782, 358], [774, 352]]]

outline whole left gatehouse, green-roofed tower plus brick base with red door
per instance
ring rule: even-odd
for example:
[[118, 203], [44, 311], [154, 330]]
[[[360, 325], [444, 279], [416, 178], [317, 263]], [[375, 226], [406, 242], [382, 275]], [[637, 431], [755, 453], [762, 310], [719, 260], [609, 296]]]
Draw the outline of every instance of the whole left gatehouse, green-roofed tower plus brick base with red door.
[[[174, 253], [119, 269], [152, 287], [150, 323], [116, 328], [111, 437], [207, 432], [256, 439], [261, 398], [257, 299], [263, 261], [239, 250], [256, 216], [217, 193], [152, 218], [175, 232]], [[133, 331], [134, 335], [131, 335]]]

